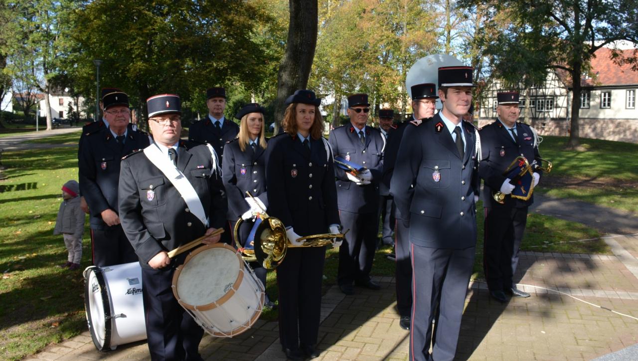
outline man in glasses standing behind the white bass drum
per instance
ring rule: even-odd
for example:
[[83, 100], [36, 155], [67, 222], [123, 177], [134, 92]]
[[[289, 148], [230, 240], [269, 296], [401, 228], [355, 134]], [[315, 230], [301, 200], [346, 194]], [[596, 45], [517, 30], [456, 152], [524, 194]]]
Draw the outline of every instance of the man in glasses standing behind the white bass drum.
[[117, 186], [122, 157], [149, 145], [145, 133], [129, 128], [126, 93], [105, 94], [102, 103], [108, 127], [86, 135], [78, 153], [80, 192], [90, 210], [93, 264], [98, 267], [137, 260], [120, 225]]

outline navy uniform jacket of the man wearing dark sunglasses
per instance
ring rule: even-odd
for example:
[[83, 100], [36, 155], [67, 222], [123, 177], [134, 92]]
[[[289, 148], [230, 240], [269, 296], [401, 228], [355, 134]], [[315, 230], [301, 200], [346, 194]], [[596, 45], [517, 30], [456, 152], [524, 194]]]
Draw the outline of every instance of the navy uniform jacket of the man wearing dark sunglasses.
[[352, 124], [346, 124], [330, 131], [332, 154], [341, 156], [361, 166], [372, 174], [371, 184], [357, 186], [350, 182], [345, 170], [334, 167], [337, 177], [337, 199], [339, 209], [352, 213], [376, 213], [379, 203], [379, 182], [383, 168], [383, 149], [385, 137], [370, 126], [366, 131], [366, 145], [361, 144], [357, 130]]

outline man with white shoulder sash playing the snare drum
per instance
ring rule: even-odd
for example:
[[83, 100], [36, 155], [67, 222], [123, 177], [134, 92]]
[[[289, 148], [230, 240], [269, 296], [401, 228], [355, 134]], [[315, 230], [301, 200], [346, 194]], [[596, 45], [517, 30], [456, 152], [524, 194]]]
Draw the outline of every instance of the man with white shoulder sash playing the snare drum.
[[151, 360], [202, 360], [204, 330], [172, 292], [175, 267], [187, 253], [171, 259], [168, 251], [204, 235], [205, 244], [219, 241], [210, 236], [226, 219], [214, 182], [217, 157], [208, 145], [180, 140], [179, 96], [156, 95], [146, 104], [153, 143], [122, 159], [119, 209], [142, 267], [147, 343]]

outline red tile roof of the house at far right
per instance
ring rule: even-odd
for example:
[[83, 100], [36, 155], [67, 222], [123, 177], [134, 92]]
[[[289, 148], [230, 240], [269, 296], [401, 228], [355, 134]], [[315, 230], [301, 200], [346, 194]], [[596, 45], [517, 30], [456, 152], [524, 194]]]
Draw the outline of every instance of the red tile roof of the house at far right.
[[[620, 59], [632, 57], [636, 49], [618, 50]], [[591, 59], [591, 73], [595, 74], [590, 79], [582, 79], [582, 85], [630, 85], [638, 84], [638, 71], [633, 71], [631, 64], [618, 65], [611, 59], [612, 50], [600, 48]]]

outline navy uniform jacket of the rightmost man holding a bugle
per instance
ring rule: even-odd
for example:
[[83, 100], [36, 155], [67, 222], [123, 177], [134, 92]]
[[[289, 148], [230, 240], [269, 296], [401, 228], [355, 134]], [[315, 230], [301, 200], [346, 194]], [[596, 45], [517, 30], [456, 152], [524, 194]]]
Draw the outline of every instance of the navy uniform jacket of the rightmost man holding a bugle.
[[[485, 207], [503, 207], [493, 198], [493, 193], [499, 191], [505, 176], [503, 172], [516, 159], [517, 156], [524, 156], [530, 163], [534, 159], [540, 158], [538, 146], [534, 146], [534, 133], [531, 127], [523, 122], [516, 122], [517, 144], [510, 135], [510, 132], [503, 124], [496, 120], [480, 131], [481, 153], [479, 173], [484, 180], [483, 202]], [[529, 200], [521, 200], [505, 196], [505, 207], [527, 207], [534, 201], [534, 196]]]

